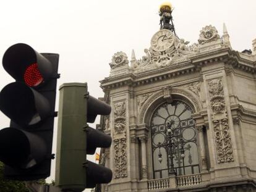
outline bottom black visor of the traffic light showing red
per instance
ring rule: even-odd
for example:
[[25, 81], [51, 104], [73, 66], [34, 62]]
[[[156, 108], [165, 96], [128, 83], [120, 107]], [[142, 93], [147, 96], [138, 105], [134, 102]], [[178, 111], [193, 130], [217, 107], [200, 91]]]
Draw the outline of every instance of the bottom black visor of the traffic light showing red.
[[28, 169], [45, 156], [45, 143], [38, 136], [17, 128], [0, 130], [0, 161], [4, 164]]

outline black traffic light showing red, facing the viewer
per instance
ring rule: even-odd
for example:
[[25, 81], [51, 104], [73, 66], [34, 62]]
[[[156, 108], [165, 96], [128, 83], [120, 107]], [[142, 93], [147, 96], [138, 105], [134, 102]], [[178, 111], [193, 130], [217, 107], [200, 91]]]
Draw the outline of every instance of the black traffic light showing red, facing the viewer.
[[0, 93], [0, 110], [11, 119], [10, 127], [0, 130], [0, 161], [8, 179], [50, 175], [58, 62], [58, 54], [40, 54], [23, 43], [4, 53], [2, 65], [15, 79]]

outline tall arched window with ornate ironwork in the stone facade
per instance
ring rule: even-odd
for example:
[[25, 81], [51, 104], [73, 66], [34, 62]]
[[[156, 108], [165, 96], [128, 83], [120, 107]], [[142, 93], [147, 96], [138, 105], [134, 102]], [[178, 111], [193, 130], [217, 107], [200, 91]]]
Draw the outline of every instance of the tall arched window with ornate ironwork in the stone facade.
[[178, 100], [161, 104], [153, 112], [150, 130], [154, 178], [200, 172], [192, 113], [186, 102]]

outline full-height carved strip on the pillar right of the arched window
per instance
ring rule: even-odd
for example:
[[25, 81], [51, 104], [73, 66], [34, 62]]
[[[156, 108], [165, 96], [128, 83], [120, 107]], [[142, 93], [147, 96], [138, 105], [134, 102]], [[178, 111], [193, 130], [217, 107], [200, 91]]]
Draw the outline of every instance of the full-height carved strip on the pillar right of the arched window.
[[213, 131], [217, 154], [217, 162], [234, 161], [233, 147], [229, 133], [228, 118], [224, 101], [224, 89], [221, 79], [209, 80], [208, 90], [213, 112]]

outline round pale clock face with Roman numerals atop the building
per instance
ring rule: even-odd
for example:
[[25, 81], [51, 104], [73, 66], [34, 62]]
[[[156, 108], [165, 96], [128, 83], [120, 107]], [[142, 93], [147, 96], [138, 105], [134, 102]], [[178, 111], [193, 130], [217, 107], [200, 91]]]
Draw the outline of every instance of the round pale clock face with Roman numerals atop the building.
[[151, 48], [155, 51], [165, 51], [173, 46], [174, 35], [170, 30], [160, 30], [151, 39]]

